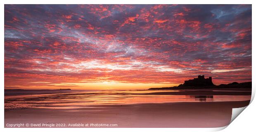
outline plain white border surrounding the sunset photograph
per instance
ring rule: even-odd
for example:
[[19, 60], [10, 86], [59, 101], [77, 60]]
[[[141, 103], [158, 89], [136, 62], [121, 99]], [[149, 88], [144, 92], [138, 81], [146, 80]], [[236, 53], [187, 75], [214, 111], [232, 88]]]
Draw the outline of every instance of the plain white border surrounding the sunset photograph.
[[[44, 131], [51, 131], [51, 130], [59, 130], [59, 128], [4, 128], [4, 4], [252, 4], [252, 14], [255, 14], [255, 5], [254, 5], [254, 1], [253, 0], [61, 0], [61, 1], [53, 1], [53, 0], [43, 0], [39, 1], [39, 0], [5, 0], [5, 1], [1, 1], [1, 16], [2, 16], [2, 21], [1, 21], [1, 34], [2, 34], [2, 44], [0, 47], [0, 84], [1, 84], [1, 97], [2, 97], [2, 101], [1, 101], [1, 106], [2, 108], [0, 108], [0, 115], [1, 115], [1, 120], [0, 120], [0, 126], [2, 129], [2, 132], [34, 132], [34, 131], [38, 131], [38, 132], [44, 132]], [[255, 19], [254, 17], [252, 17], [252, 23], [254, 23]], [[254, 26], [252, 27], [252, 35], [254, 35], [254, 31], [255, 28]], [[255, 43], [255, 39], [254, 37], [252, 37], [252, 43]], [[255, 52], [255, 46], [252, 45], [252, 54], [254, 54]], [[255, 57], [252, 58], [252, 67], [255, 66], [256, 64], [256, 59]], [[255, 70], [254, 68], [252, 69], [252, 82], [253, 82], [253, 89], [252, 89], [252, 99], [254, 98], [255, 95]], [[252, 101], [251, 99], [251, 101]], [[251, 116], [247, 117], [245, 120], [251, 120], [254, 121], [255, 119], [255, 114], [253, 111], [256, 110], [255, 108], [255, 103], [254, 106], [249, 106], [250, 107], [250, 111], [251, 114], [249, 115], [254, 115], [253, 119], [251, 120]], [[254, 110], [253, 110], [254, 109]], [[247, 110], [246, 110], [247, 111]], [[242, 113], [243, 114], [243, 113]], [[245, 124], [248, 124], [247, 121], [244, 121], [244, 125], [243, 124], [239, 124], [236, 126], [229, 126], [229, 127], [233, 127], [230, 128], [230, 131], [234, 131], [237, 130], [237, 128], [240, 128], [242, 126], [247, 126]], [[236, 120], [234, 121], [236, 122]], [[241, 122], [243, 123], [243, 122]], [[247, 126], [248, 128], [249, 126]], [[98, 132], [98, 131], [104, 131], [104, 132], [130, 132], [130, 131], [147, 131], [147, 132], [155, 132], [155, 131], [175, 131], [175, 132], [184, 132], [184, 131], [189, 131], [189, 132], [207, 132], [207, 131], [218, 131], [218, 130], [223, 130], [225, 127], [219, 127], [219, 128], [61, 128], [61, 131], [63, 132], [70, 132], [70, 131], [76, 131], [76, 132], [84, 132], [84, 131], [90, 131], [90, 132]], [[250, 130], [251, 132], [254, 130], [254, 126], [251, 126], [251, 129], [247, 129]], [[226, 131], [226, 130], [225, 130]], [[227, 131], [228, 132], [228, 131]]]

